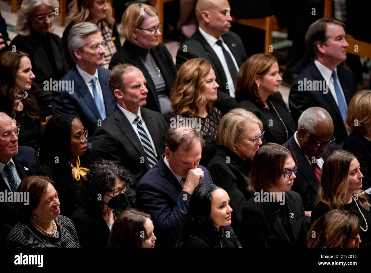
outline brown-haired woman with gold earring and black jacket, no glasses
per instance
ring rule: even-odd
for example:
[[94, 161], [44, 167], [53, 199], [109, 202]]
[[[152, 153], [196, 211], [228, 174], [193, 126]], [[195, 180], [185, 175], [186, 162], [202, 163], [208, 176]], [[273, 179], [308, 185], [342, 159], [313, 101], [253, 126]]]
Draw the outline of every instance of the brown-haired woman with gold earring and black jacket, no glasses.
[[263, 122], [263, 144], [283, 144], [298, 127], [278, 91], [282, 81], [278, 72], [277, 59], [259, 53], [250, 56], [237, 74], [236, 100]]

